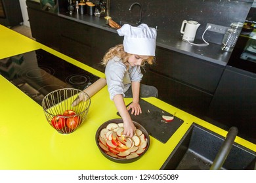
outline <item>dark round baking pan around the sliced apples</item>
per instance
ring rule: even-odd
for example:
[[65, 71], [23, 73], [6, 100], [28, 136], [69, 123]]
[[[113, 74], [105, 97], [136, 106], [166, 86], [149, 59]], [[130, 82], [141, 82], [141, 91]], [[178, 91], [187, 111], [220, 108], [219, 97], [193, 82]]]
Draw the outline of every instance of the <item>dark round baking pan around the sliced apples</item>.
[[142, 131], [142, 133], [144, 133], [144, 135], [147, 139], [147, 141], [146, 141], [147, 145], [146, 145], [146, 148], [145, 148], [144, 152], [142, 152], [142, 154], [140, 154], [136, 158], [119, 159], [119, 158], [115, 158], [115, 157], [112, 157], [112, 156], [106, 154], [106, 152], [104, 152], [104, 150], [102, 150], [102, 148], [100, 148], [100, 145], [98, 144], [98, 142], [99, 142], [98, 138], [100, 136], [100, 131], [102, 129], [106, 128], [107, 125], [111, 124], [111, 123], [119, 124], [119, 123], [123, 123], [123, 120], [121, 118], [120, 119], [118, 118], [118, 119], [109, 120], [108, 122], [105, 122], [104, 124], [100, 125], [100, 127], [98, 127], [98, 130], [96, 131], [96, 135], [95, 135], [95, 141], [96, 141], [98, 149], [100, 150], [102, 155], [105, 156], [106, 158], [110, 159], [111, 161], [116, 162], [116, 163], [131, 163], [133, 161], [137, 161], [138, 159], [140, 159], [147, 152], [147, 150], [150, 146], [150, 136], [148, 135], [148, 132], [146, 131], [146, 129], [144, 129], [144, 127], [142, 127], [142, 125], [138, 124], [137, 122], [133, 122], [133, 124], [135, 124], [135, 127], [137, 129], [140, 129]]

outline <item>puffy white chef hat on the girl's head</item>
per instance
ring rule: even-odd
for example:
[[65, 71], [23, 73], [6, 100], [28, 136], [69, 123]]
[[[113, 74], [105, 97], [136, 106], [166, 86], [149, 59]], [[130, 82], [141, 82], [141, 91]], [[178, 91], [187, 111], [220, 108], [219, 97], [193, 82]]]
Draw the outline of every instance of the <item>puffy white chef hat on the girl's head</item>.
[[140, 24], [133, 27], [124, 24], [117, 29], [119, 36], [124, 36], [123, 48], [129, 54], [140, 56], [155, 56], [156, 51], [156, 29]]

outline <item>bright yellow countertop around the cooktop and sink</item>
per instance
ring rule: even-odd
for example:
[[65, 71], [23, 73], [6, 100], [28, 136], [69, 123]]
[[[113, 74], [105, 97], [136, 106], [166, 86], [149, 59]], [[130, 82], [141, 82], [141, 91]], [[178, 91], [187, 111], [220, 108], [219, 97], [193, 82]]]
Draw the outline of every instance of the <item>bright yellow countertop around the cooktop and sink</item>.
[[[95, 69], [60, 54], [55, 50], [28, 39], [0, 25], [0, 59], [42, 48], [70, 61], [99, 77]], [[138, 161], [115, 163], [106, 159], [96, 146], [95, 133], [98, 127], [117, 116], [116, 107], [109, 99], [106, 86], [91, 97], [91, 107], [83, 125], [74, 133], [62, 135], [48, 124], [43, 108], [0, 75], [0, 169], [160, 169], [165, 159], [179, 143], [193, 122], [219, 135], [227, 131], [175, 108], [159, 99], [150, 97], [146, 101], [173, 113], [184, 120], [174, 135], [165, 144], [150, 137], [150, 148]], [[125, 99], [130, 103], [131, 99]], [[236, 137], [236, 142], [256, 151], [256, 144]]]

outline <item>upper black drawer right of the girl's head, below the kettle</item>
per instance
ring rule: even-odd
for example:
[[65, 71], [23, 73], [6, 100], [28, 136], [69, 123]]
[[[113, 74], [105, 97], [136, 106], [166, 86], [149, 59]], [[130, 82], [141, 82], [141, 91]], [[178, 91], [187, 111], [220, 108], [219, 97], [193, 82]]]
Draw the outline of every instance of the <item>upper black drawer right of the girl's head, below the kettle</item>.
[[160, 47], [156, 48], [156, 65], [150, 69], [208, 93], [215, 92], [224, 71], [221, 65]]

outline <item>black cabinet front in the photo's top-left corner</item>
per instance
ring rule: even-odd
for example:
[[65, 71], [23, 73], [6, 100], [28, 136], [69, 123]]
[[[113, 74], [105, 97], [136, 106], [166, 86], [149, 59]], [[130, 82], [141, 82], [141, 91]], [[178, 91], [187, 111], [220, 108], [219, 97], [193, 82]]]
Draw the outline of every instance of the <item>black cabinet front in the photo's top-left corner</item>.
[[0, 24], [7, 27], [22, 24], [22, 11], [19, 0], [0, 0]]

